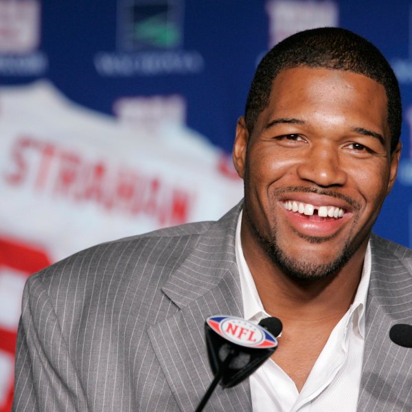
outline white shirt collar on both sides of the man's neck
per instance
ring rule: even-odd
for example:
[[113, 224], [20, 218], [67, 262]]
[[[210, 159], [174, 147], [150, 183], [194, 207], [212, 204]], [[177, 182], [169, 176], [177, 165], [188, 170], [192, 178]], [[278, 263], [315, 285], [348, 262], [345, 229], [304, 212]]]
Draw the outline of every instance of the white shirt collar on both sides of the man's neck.
[[[242, 222], [242, 210], [238, 218], [238, 225], [236, 226], [236, 262], [238, 264], [238, 270], [240, 274], [240, 287], [242, 290], [242, 301], [244, 319], [253, 322], [259, 322], [264, 317], [270, 315], [264, 310], [262, 301], [260, 300], [258, 290], [256, 289], [255, 282], [249, 266], [244, 259], [242, 241], [240, 239], [240, 224]], [[365, 260], [363, 261], [363, 271], [361, 275], [361, 282], [359, 282], [358, 290], [354, 301], [349, 309], [349, 316], [347, 324], [352, 321], [354, 330], [357, 330], [363, 339], [365, 339], [365, 306], [367, 299], [367, 290], [369, 288], [369, 279], [371, 276], [371, 247], [367, 244], [365, 253]]]

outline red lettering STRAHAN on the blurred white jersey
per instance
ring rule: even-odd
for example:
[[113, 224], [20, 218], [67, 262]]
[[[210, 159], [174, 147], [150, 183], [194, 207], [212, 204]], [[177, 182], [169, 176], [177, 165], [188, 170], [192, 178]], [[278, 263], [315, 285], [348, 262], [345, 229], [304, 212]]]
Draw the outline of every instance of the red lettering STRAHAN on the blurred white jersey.
[[74, 150], [36, 137], [22, 136], [11, 151], [10, 185], [26, 185], [36, 192], [70, 201], [94, 203], [121, 214], [146, 215], [159, 226], [189, 220], [194, 193], [103, 159], [90, 161]]

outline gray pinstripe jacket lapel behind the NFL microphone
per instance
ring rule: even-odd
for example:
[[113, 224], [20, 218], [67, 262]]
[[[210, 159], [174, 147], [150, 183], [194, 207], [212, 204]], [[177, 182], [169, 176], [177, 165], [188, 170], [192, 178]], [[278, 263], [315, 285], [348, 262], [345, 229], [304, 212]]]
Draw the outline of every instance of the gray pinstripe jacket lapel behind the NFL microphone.
[[[205, 319], [242, 317], [235, 233], [240, 205], [198, 239], [162, 290], [181, 310], [148, 329], [150, 341], [181, 411], [194, 411], [213, 375], [205, 343]], [[218, 394], [218, 396], [216, 396]], [[205, 411], [251, 411], [249, 381], [219, 386]]]

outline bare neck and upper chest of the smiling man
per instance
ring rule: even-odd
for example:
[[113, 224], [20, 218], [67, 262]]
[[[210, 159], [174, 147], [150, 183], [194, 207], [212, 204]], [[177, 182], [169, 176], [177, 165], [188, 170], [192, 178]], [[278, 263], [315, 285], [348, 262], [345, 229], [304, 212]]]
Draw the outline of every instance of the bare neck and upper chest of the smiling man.
[[281, 319], [284, 326], [273, 361], [301, 391], [332, 330], [354, 301], [367, 240], [338, 273], [322, 279], [298, 279], [282, 271], [243, 225], [242, 219], [242, 254], [260, 301], [264, 310]]

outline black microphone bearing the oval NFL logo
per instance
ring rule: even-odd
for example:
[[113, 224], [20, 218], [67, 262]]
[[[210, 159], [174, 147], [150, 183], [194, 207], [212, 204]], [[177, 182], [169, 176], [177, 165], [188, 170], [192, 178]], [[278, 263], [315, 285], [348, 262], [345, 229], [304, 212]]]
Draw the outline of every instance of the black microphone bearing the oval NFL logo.
[[275, 352], [281, 333], [282, 322], [275, 317], [262, 319], [259, 325], [238, 317], [208, 317], [205, 335], [214, 380], [195, 412], [203, 410], [219, 382], [223, 389], [230, 388], [258, 369]]

